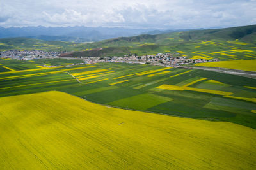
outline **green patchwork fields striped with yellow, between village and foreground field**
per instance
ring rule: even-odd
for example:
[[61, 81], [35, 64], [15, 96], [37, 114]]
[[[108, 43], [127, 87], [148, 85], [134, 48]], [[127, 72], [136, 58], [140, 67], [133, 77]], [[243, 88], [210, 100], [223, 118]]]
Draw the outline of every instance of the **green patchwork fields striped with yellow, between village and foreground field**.
[[[16, 61], [1, 60], [0, 67], [6, 62]], [[101, 63], [2, 72], [0, 97], [58, 90], [120, 108], [234, 122], [255, 129], [255, 84], [252, 78], [212, 71]]]

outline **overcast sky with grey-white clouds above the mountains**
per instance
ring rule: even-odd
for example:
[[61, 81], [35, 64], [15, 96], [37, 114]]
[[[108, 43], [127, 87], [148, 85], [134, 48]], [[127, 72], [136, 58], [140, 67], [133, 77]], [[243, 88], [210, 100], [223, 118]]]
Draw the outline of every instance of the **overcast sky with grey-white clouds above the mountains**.
[[0, 26], [195, 29], [256, 24], [256, 0], [0, 0]]

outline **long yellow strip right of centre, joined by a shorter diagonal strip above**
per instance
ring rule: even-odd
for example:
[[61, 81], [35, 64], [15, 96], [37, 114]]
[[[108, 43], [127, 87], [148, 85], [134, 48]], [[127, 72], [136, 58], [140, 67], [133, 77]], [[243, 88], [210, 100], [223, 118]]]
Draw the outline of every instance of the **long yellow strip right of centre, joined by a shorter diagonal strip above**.
[[233, 94], [232, 92], [224, 92], [220, 90], [209, 90], [209, 89], [199, 89], [199, 88], [194, 88], [194, 87], [180, 87], [177, 85], [160, 85], [156, 87], [158, 89], [164, 89], [164, 90], [189, 90], [189, 91], [195, 91], [195, 92], [205, 92], [205, 93], [210, 93], [210, 94], [218, 94], [222, 96], [229, 96]]

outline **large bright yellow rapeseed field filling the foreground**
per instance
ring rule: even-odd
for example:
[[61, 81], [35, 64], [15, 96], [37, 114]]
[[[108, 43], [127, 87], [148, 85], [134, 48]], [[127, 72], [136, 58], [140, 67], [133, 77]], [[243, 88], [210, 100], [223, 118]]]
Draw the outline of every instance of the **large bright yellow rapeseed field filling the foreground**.
[[256, 166], [255, 129], [230, 122], [109, 108], [63, 92], [1, 97], [0, 112], [2, 169]]

